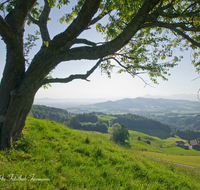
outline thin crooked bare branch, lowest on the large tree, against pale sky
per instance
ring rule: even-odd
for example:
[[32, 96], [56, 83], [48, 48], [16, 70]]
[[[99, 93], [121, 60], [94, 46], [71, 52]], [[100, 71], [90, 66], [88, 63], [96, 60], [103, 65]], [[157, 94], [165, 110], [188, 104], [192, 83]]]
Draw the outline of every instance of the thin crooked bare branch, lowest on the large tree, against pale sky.
[[76, 75], [70, 75], [67, 78], [54, 78], [54, 79], [44, 79], [43, 84], [48, 84], [48, 83], [68, 83], [71, 82], [75, 79], [82, 79], [82, 80], [86, 80], [89, 81], [87, 78], [97, 69], [97, 67], [100, 65], [100, 63], [103, 61], [103, 59], [100, 59], [95, 65], [94, 67], [92, 67], [92, 69], [90, 69], [89, 71], [87, 71], [86, 74], [76, 74]]

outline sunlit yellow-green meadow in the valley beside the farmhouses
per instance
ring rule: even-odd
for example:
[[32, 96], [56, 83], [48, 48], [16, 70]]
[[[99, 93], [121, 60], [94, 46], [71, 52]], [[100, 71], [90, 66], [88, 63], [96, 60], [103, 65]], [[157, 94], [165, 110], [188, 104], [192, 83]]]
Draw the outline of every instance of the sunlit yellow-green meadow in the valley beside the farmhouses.
[[[141, 141], [137, 140], [138, 137], [141, 137]], [[200, 167], [200, 151], [185, 150], [175, 146], [175, 141], [184, 141], [179, 137], [161, 140], [138, 131], [130, 131], [130, 140], [135, 149], [140, 151], [146, 150], [143, 152], [145, 155], [157, 160]], [[145, 141], [150, 141], [151, 145], [148, 145]], [[187, 143], [187, 141], [184, 142]]]

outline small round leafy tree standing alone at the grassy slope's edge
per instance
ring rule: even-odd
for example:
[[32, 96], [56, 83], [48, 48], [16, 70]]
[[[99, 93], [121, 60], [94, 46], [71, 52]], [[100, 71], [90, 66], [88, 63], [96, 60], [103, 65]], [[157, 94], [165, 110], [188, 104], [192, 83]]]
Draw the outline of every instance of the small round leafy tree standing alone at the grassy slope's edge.
[[122, 142], [124, 143], [125, 140], [129, 140], [129, 132], [126, 128], [126, 125], [115, 123], [112, 125], [110, 130], [111, 137], [110, 139], [115, 142]]

